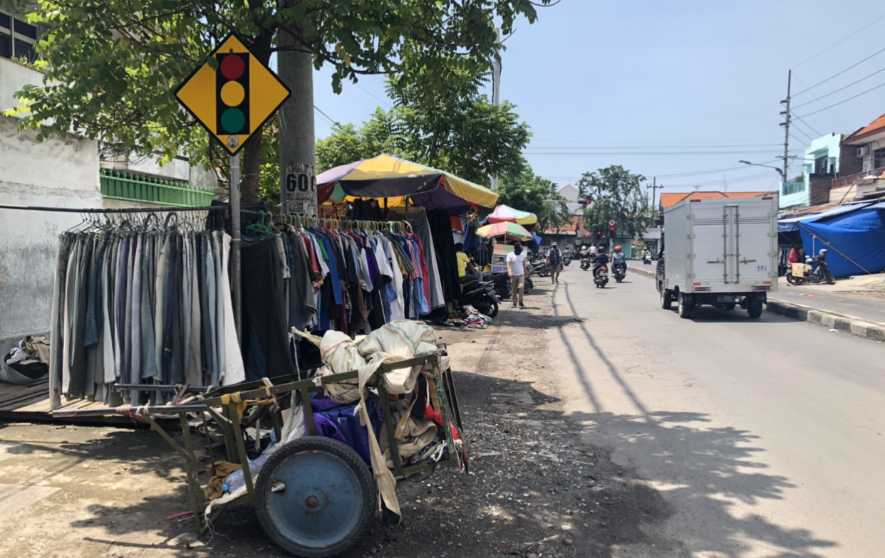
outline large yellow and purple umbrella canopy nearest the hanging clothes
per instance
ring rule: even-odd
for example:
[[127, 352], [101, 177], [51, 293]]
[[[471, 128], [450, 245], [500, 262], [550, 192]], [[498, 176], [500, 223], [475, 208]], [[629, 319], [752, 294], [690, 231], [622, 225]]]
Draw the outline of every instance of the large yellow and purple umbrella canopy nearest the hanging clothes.
[[387, 154], [342, 164], [319, 174], [317, 196], [319, 203], [330, 199], [387, 198], [389, 207], [404, 206], [408, 197], [412, 205], [449, 210], [455, 215], [480, 206], [495, 207], [498, 201], [498, 195], [487, 187]]

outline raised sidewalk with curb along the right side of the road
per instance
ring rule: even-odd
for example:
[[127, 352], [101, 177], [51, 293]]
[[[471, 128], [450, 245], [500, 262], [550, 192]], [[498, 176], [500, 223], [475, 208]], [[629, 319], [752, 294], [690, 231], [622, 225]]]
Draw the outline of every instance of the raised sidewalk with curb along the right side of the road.
[[[656, 268], [642, 262], [627, 264], [628, 272], [651, 278]], [[837, 280], [835, 285], [796, 287], [781, 278], [777, 292], [768, 295], [766, 310], [859, 337], [885, 340], [883, 279], [885, 275], [877, 274]]]

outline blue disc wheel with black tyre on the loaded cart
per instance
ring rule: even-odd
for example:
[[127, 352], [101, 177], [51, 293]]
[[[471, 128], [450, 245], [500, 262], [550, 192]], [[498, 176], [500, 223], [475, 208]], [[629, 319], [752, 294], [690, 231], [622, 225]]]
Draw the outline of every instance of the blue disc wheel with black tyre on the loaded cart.
[[289, 554], [304, 558], [334, 556], [355, 544], [375, 501], [366, 462], [330, 438], [303, 438], [280, 447], [255, 485], [261, 528]]

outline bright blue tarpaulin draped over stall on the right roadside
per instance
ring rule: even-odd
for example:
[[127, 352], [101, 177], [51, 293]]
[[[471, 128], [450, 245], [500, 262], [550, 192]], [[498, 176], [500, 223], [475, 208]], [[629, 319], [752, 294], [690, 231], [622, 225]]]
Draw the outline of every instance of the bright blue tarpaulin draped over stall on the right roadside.
[[827, 264], [836, 277], [885, 269], [883, 205], [855, 205], [853, 210], [797, 222], [805, 254], [817, 255], [820, 248], [827, 248]]

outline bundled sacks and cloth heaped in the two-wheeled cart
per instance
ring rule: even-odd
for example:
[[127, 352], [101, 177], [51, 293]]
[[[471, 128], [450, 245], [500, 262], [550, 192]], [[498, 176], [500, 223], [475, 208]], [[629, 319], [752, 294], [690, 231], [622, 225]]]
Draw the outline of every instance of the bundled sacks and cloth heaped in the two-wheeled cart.
[[[429, 354], [439, 355], [440, 370], [444, 371], [449, 368], [449, 357], [437, 347], [433, 328], [412, 320], [396, 320], [357, 340], [331, 330], [322, 338], [296, 333], [319, 347], [325, 363], [315, 382], [326, 388], [326, 397], [309, 401], [317, 435], [341, 441], [366, 461], [378, 485], [378, 512], [392, 518], [389, 522], [398, 523], [402, 513], [396, 501], [396, 479], [390, 471], [394, 467], [394, 456], [387, 431], [381, 428], [383, 412], [373, 386], [383, 385], [388, 394], [397, 396], [396, 401], [389, 403], [389, 409], [396, 423], [394, 436], [401, 466], [439, 461], [448, 447], [436, 378], [429, 365], [377, 372], [381, 364]], [[358, 371], [358, 378], [326, 385], [319, 381], [322, 376], [346, 371]], [[253, 478], [278, 447], [310, 435], [296, 393], [292, 393], [291, 404], [282, 411], [282, 417], [281, 440], [273, 440], [250, 462]], [[215, 475], [204, 489], [207, 499], [211, 500], [205, 511], [208, 516], [214, 506], [235, 500], [246, 489], [239, 467], [227, 467], [227, 463], [219, 462], [213, 471], [207, 468], [207, 472]]]

